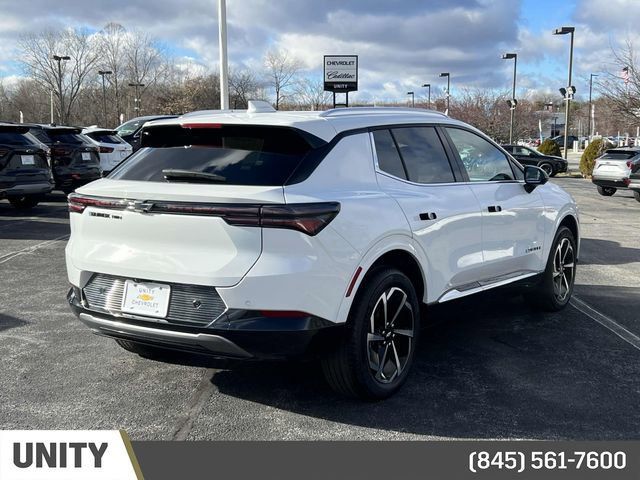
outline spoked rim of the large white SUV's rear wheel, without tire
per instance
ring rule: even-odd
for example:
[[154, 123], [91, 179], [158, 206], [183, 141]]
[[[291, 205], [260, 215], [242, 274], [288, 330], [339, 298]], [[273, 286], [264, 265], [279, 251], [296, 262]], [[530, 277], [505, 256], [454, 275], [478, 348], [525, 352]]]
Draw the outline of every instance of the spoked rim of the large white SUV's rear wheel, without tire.
[[390, 384], [405, 371], [413, 348], [413, 315], [406, 292], [398, 287], [382, 293], [373, 307], [367, 355], [370, 373], [377, 382]]

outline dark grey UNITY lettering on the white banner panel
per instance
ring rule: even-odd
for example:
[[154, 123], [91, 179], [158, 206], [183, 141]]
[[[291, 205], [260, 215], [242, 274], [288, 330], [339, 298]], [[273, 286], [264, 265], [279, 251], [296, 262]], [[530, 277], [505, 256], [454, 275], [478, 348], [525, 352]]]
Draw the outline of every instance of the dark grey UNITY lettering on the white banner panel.
[[[25, 442], [13, 444], [13, 464], [18, 468], [82, 468], [83, 461], [93, 460], [94, 468], [102, 468], [102, 457], [108, 443], [94, 442]], [[93, 455], [86, 455], [87, 450]], [[84, 455], [83, 455], [84, 453]], [[35, 460], [35, 461], [34, 461]]]

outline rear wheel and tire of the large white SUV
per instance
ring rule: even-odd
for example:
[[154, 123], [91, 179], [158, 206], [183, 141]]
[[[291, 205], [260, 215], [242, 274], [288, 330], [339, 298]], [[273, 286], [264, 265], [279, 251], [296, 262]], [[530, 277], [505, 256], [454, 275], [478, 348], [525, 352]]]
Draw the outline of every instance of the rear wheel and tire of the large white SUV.
[[341, 344], [322, 359], [327, 382], [339, 394], [362, 400], [393, 395], [407, 379], [419, 330], [411, 281], [399, 270], [376, 269], [358, 290]]

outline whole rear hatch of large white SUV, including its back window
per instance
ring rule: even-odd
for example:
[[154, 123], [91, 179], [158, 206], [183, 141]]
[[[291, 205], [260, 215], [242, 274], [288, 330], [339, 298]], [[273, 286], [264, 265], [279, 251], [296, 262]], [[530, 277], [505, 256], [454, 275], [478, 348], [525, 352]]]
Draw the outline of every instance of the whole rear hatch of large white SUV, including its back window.
[[141, 150], [70, 197], [68, 258], [86, 272], [235, 285], [262, 251], [264, 212], [285, 208], [269, 206], [284, 204], [313, 143], [290, 128], [148, 127]]

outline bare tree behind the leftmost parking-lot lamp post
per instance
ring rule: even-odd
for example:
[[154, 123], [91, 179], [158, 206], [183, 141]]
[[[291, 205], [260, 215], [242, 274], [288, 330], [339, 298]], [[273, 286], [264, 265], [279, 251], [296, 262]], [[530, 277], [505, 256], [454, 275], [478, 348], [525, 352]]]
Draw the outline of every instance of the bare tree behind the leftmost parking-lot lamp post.
[[[86, 30], [49, 31], [20, 39], [21, 62], [25, 72], [42, 88], [55, 92], [58, 118], [69, 122], [71, 112], [97, 63], [94, 42]], [[68, 56], [56, 61], [54, 55]]]

